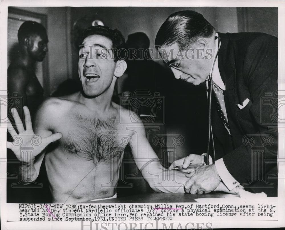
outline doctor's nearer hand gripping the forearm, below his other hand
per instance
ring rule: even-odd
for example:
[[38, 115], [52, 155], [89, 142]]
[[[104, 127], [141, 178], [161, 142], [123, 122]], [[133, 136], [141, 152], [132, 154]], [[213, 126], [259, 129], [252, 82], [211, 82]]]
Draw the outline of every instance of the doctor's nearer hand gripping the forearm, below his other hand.
[[186, 174], [186, 177], [190, 179], [185, 183], [184, 189], [185, 192], [189, 192], [191, 194], [204, 194], [216, 191], [216, 189], [227, 189], [221, 182], [222, 180], [215, 165], [199, 166], [196, 168], [196, 171]]

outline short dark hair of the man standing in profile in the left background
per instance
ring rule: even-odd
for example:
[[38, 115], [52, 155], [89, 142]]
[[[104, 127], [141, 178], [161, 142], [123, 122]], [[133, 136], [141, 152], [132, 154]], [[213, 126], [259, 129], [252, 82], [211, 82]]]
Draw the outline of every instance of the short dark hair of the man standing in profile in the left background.
[[46, 34], [46, 28], [44, 28], [42, 24], [34, 21], [25, 21], [18, 30], [19, 44], [23, 44], [25, 38], [28, 38], [29, 36], [42, 34]]

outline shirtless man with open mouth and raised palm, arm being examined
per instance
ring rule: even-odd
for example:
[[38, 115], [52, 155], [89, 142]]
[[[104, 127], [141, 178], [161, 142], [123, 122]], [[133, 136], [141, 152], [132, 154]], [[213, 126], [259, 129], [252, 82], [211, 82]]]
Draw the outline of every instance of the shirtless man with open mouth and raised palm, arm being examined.
[[[124, 42], [118, 30], [105, 26], [87, 29], [78, 61], [83, 92], [44, 101], [34, 129], [27, 107], [26, 130], [18, 125], [17, 134], [8, 128], [14, 143], [8, 142], [7, 147], [21, 160], [24, 181], [37, 178], [45, 158], [53, 202], [88, 202], [114, 196], [128, 143], [137, 167], [154, 191], [184, 193], [185, 174], [163, 168], [146, 139], [143, 124], [133, 124], [131, 117], [135, 115], [111, 102], [116, 80], [127, 68], [115, 52]], [[13, 114], [16, 123], [21, 123], [17, 112]], [[23, 141], [21, 147], [16, 145], [17, 137]], [[41, 144], [34, 146], [34, 155], [21, 155], [21, 148], [30, 145], [33, 137], [42, 138]]]

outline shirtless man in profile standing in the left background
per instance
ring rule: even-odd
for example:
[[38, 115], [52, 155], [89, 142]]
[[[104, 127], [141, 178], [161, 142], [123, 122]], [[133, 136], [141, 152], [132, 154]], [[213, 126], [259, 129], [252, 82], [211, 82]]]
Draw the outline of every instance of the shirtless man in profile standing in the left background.
[[[8, 67], [8, 92], [23, 97], [32, 117], [43, 101], [44, 90], [38, 81], [34, 67], [43, 61], [48, 52], [48, 36], [44, 26], [38, 22], [25, 21], [18, 30], [19, 58]], [[21, 115], [21, 114], [20, 114]]]

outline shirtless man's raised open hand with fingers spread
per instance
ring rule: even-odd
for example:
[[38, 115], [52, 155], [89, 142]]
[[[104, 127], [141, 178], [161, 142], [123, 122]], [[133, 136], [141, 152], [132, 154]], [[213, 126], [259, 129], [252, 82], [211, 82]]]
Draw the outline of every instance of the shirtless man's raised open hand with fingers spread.
[[[48, 144], [60, 139], [62, 137], [62, 134], [51, 134], [50, 136], [44, 138], [39, 135], [35, 135], [32, 129], [30, 111], [27, 106], [24, 106], [23, 109], [25, 114], [26, 130], [23, 126], [23, 123], [21, 121], [21, 118], [19, 117], [17, 110], [15, 108], [11, 109], [13, 118], [15, 120], [15, 123], [17, 124], [16, 126], [19, 134], [17, 134], [17, 132], [11, 126], [11, 123], [8, 124], [8, 132], [13, 137], [14, 141], [13, 143], [7, 141], [7, 148], [11, 149], [20, 161], [28, 163], [33, 160], [34, 157], [40, 154], [45, 149], [45, 147], [48, 146]], [[25, 157], [21, 156], [21, 149], [23, 151], [25, 148], [33, 149], [32, 158], [31, 156], [27, 155], [25, 155]]]

